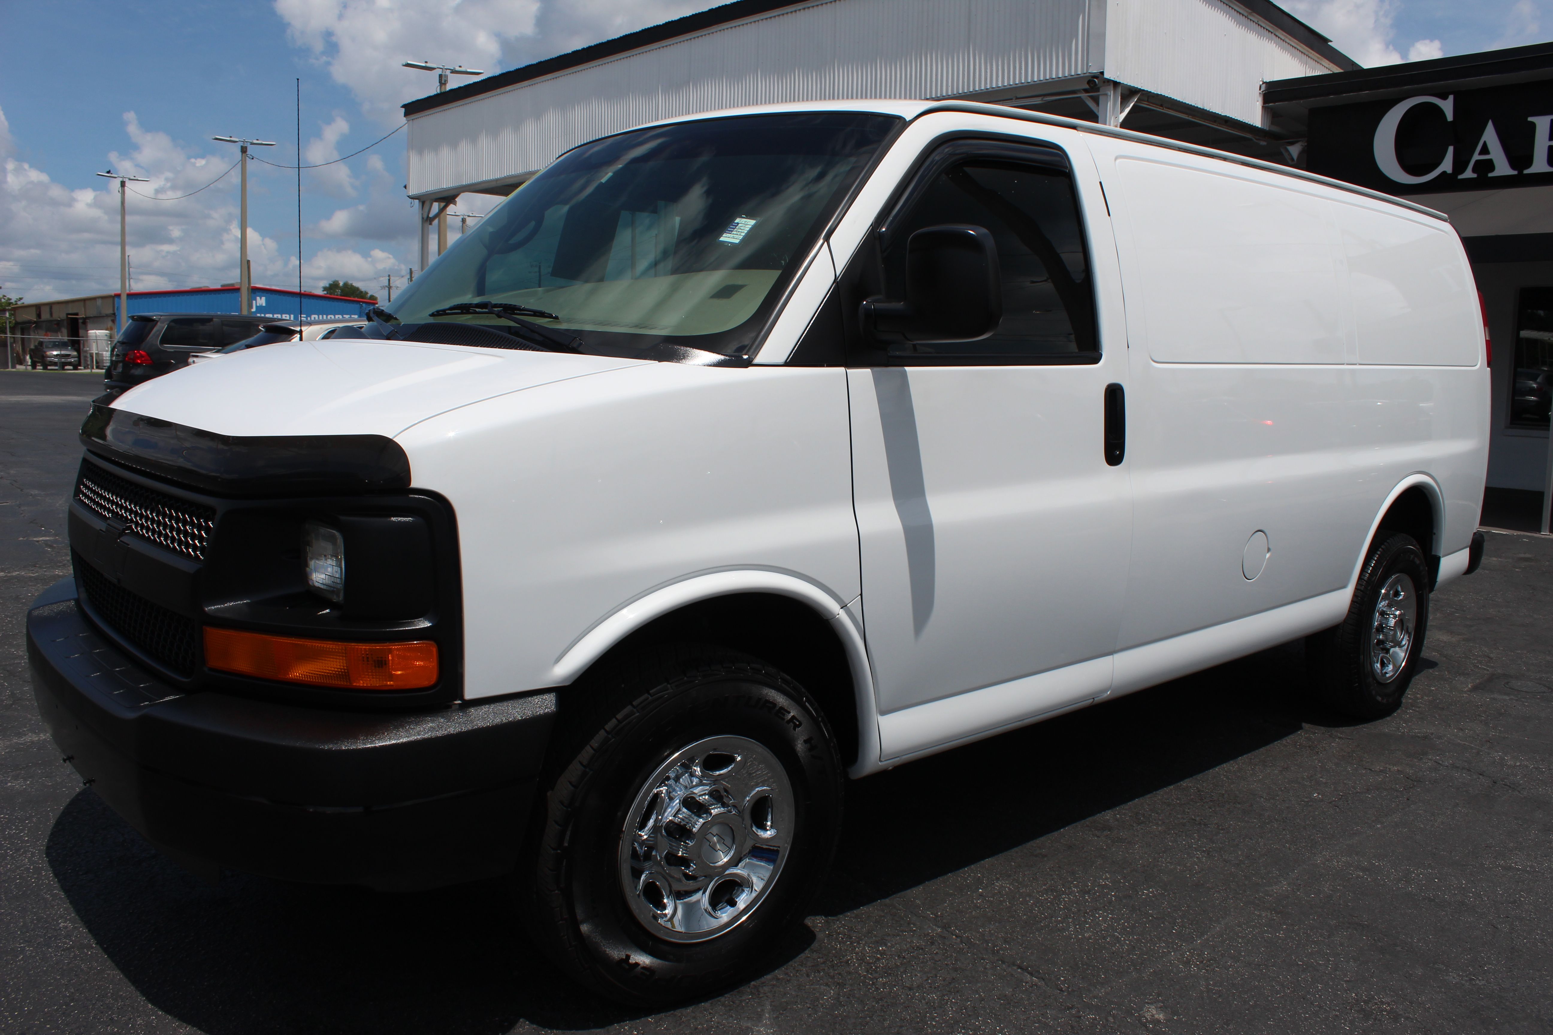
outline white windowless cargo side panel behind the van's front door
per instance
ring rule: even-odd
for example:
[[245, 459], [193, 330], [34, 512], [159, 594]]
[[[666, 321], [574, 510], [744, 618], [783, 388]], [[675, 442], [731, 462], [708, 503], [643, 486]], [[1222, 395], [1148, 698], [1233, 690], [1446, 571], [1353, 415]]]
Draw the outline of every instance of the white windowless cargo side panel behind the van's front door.
[[[1132, 346], [1135, 534], [1118, 650], [1351, 590], [1370, 531], [1413, 473], [1440, 487], [1446, 518], [1424, 549], [1464, 546], [1482, 500], [1488, 396], [1455, 234], [1318, 183], [1089, 143], [1118, 222]], [[1356, 239], [1424, 241], [1427, 254], [1356, 251]], [[1368, 293], [1350, 273], [1360, 251]], [[1457, 366], [1430, 365], [1440, 362]], [[1258, 531], [1269, 548], [1252, 573]], [[1221, 653], [1204, 655], [1204, 667]]]

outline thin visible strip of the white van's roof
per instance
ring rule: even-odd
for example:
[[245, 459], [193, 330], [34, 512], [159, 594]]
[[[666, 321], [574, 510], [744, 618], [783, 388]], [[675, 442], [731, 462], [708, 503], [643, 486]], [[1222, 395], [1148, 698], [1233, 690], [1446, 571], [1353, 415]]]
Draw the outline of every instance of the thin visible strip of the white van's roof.
[[[1399, 208], [1407, 208], [1424, 216], [1432, 216], [1441, 222], [1451, 222], [1451, 217], [1444, 213], [1435, 211], [1416, 202], [1409, 202], [1407, 199], [1393, 197], [1391, 194], [1382, 194], [1381, 191], [1371, 191], [1370, 188], [1359, 186], [1356, 183], [1345, 183], [1342, 180], [1332, 180], [1329, 177], [1317, 175], [1315, 172], [1306, 172], [1305, 169], [1295, 169], [1292, 166], [1280, 166], [1270, 161], [1261, 161], [1259, 158], [1247, 158], [1246, 155], [1236, 155], [1228, 151], [1214, 151], [1213, 147], [1204, 147], [1200, 144], [1188, 144], [1179, 140], [1169, 140], [1166, 137], [1151, 137], [1149, 133], [1138, 133], [1131, 129], [1117, 129], [1112, 126], [1101, 126], [1098, 123], [1081, 123], [1075, 118], [1064, 118], [1061, 115], [1047, 115], [1044, 112], [1027, 112], [1017, 107], [1008, 107], [1006, 104], [980, 104], [977, 101], [801, 101], [787, 104], [756, 104], [752, 107], [736, 107], [736, 109], [721, 109], [716, 112], [697, 112], [696, 115], [680, 115], [676, 118], [665, 118], [657, 123], [648, 123], [648, 126], [669, 126], [674, 123], [694, 123], [707, 118], [725, 118], [728, 115], [763, 115], [776, 112], [877, 112], [879, 115], [895, 115], [904, 118], [905, 121], [913, 121], [922, 115], [932, 115], [933, 112], [968, 112], [975, 115], [991, 115], [992, 118], [1008, 118], [1020, 123], [1042, 123], [1045, 126], [1061, 126], [1064, 129], [1073, 129], [1081, 133], [1096, 133], [1101, 137], [1118, 137], [1121, 140], [1131, 140], [1140, 144], [1149, 144], [1152, 147], [1168, 147], [1171, 151], [1183, 151], [1186, 154], [1202, 155], [1205, 158], [1218, 158], [1219, 161], [1230, 161], [1239, 166], [1249, 166], [1252, 169], [1261, 169], [1264, 172], [1277, 172], [1280, 175], [1294, 177], [1297, 180], [1308, 180], [1311, 183], [1320, 183], [1322, 186], [1329, 186], [1339, 191], [1346, 191], [1350, 194], [1359, 194], [1376, 202], [1385, 202], [1388, 205], [1398, 205]], [[640, 126], [637, 129], [641, 129]], [[634, 130], [624, 130], [634, 132]], [[613, 135], [613, 133], [612, 133]]]

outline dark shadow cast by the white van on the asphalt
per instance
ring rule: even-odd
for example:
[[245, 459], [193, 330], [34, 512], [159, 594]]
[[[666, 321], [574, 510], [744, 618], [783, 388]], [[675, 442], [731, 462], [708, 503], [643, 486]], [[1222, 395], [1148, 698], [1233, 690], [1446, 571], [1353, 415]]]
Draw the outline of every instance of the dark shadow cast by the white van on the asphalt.
[[[1301, 722], [1336, 725], [1303, 701], [1303, 652], [1289, 644], [853, 784], [817, 914], [846, 914], [1028, 846], [1275, 743]], [[47, 857], [140, 995], [213, 1035], [480, 1033], [522, 1021], [592, 1029], [640, 1016], [593, 1001], [540, 957], [500, 883], [374, 894], [228, 872], [207, 886], [87, 790], [56, 819]], [[812, 942], [800, 931], [770, 970]]]

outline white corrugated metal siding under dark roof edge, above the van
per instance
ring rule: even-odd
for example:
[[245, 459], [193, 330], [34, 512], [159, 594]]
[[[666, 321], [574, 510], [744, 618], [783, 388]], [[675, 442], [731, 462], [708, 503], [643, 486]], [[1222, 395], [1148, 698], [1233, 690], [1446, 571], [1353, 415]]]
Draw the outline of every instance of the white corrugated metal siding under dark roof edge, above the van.
[[595, 137], [697, 112], [1005, 101], [1075, 76], [1256, 126], [1263, 81], [1334, 70], [1227, 0], [817, 0], [413, 115], [408, 192], [511, 183]]

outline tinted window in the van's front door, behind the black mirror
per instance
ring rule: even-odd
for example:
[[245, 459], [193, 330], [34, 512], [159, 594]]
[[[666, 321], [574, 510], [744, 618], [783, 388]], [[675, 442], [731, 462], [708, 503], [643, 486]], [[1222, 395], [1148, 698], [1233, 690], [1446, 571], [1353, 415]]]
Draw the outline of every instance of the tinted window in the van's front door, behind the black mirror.
[[912, 233], [940, 223], [985, 227], [1003, 272], [1003, 321], [991, 338], [902, 343], [893, 355], [1061, 355], [1098, 352], [1095, 298], [1078, 199], [1065, 172], [1000, 158], [968, 158], [938, 174], [891, 231], [885, 293], [905, 292]]

